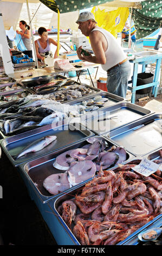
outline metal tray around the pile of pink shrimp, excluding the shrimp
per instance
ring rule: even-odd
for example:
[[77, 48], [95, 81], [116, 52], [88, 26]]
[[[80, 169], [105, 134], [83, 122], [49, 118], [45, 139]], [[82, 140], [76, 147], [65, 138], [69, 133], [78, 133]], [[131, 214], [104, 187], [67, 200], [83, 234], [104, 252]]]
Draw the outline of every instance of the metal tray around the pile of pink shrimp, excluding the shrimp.
[[[141, 159], [132, 159], [131, 162], [128, 162], [127, 161], [127, 164], [131, 164], [131, 163], [139, 163], [141, 161]], [[118, 168], [118, 167], [117, 167]], [[114, 168], [111, 168], [112, 170], [115, 169]], [[54, 237], [56, 236], [59, 236], [60, 237], [60, 241], [59, 241], [59, 245], [62, 245], [64, 243], [63, 242], [63, 238], [64, 235], [68, 236], [68, 240], [67, 240], [67, 243], [66, 245], [80, 245], [79, 241], [76, 239], [76, 237], [73, 235], [72, 231], [68, 228], [67, 224], [63, 221], [61, 215], [59, 214], [59, 212], [57, 211], [59, 205], [65, 201], [65, 200], [70, 200], [70, 199], [73, 199], [75, 197], [76, 194], [79, 194], [80, 190], [82, 189], [83, 185], [80, 185], [79, 187], [77, 187], [76, 189], [74, 189], [73, 191], [70, 191], [70, 193], [66, 193], [64, 194], [63, 196], [60, 196], [59, 198], [57, 199], [51, 199], [49, 200], [49, 202], [47, 203], [49, 205], [49, 208], [51, 209], [51, 211], [53, 212], [53, 219], [55, 221], [55, 219], [57, 219], [57, 221], [60, 223], [60, 228], [57, 230], [57, 233], [53, 233], [53, 224], [51, 222], [51, 232], [53, 233]], [[80, 212], [78, 212], [80, 213]], [[51, 214], [50, 214], [51, 215]], [[161, 219], [161, 214], [158, 215], [157, 217], [155, 217], [152, 221], [146, 223], [144, 226], [142, 226], [140, 229], [138, 229], [137, 231], [135, 231], [134, 233], [132, 233], [131, 235], [129, 235], [125, 240], [117, 243], [116, 245], [125, 245], [126, 241], [128, 241], [126, 244], [129, 245], [129, 240], [132, 239], [132, 237], [137, 237], [137, 234], [144, 230], [146, 227], [149, 227], [152, 223], [154, 223], [156, 220], [159, 220]], [[72, 226], [73, 227], [73, 226]], [[57, 239], [57, 237], [55, 238]]]

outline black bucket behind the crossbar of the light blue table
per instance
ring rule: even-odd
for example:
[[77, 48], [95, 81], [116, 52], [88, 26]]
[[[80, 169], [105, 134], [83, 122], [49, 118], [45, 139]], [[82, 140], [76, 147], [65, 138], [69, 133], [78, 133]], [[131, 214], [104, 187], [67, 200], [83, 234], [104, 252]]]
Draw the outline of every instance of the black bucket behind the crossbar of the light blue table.
[[[152, 83], [153, 82], [153, 74], [150, 72], [150, 73], [139, 73], [137, 75], [137, 86], [142, 86], [144, 84], [147, 84], [147, 83]], [[147, 87], [147, 88], [144, 88], [144, 89], [140, 89], [137, 91], [138, 94], [147, 94], [147, 93], [150, 93], [152, 90], [152, 87]]]

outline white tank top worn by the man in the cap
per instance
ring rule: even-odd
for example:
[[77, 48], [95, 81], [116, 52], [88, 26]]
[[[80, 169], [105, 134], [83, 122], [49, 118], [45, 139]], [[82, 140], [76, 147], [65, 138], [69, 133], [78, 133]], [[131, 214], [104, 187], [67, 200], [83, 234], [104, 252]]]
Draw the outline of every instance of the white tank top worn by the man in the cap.
[[94, 28], [93, 31], [100, 31], [107, 40], [106, 63], [101, 65], [103, 70], [107, 71], [127, 58], [126, 53], [111, 33], [100, 27]]

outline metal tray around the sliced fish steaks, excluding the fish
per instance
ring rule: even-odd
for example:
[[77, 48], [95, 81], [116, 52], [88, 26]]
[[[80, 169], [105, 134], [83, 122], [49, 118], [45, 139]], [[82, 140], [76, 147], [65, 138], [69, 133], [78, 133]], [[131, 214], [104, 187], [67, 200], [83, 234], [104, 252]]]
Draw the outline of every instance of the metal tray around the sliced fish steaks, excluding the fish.
[[[97, 138], [103, 138], [102, 136], [95, 136]], [[113, 145], [116, 144], [112, 144], [111, 142], [109, 142], [108, 139], [104, 138], [105, 141], [107, 141], [110, 145], [110, 147], [112, 147]], [[62, 192], [60, 194], [57, 194], [56, 196], [51, 195], [44, 187], [43, 187], [43, 180], [47, 178], [47, 176], [51, 175], [51, 174], [56, 174], [56, 173], [64, 173], [64, 170], [58, 170], [56, 168], [53, 167], [53, 163], [56, 159], [57, 156], [59, 156], [60, 154], [71, 150], [71, 149], [77, 149], [77, 148], [82, 148], [84, 145], [87, 144], [87, 138], [83, 139], [80, 142], [76, 142], [73, 145], [70, 146], [66, 146], [64, 148], [60, 148], [57, 151], [55, 151], [54, 153], [50, 153], [46, 156], [42, 156], [37, 158], [36, 160], [27, 162], [27, 163], [23, 163], [19, 166], [19, 168], [22, 170], [22, 172], [27, 176], [30, 184], [32, 187], [35, 188], [35, 190], [37, 191], [37, 193], [39, 194], [41, 200], [43, 201], [43, 203], [46, 203], [48, 200], [50, 200], [51, 198], [56, 198], [58, 196], [60, 196], [60, 194], [64, 194], [65, 192]], [[133, 156], [131, 154], [127, 153], [127, 160], [125, 162], [127, 162], [128, 160], [130, 160]], [[124, 163], [125, 163], [124, 162]], [[81, 184], [85, 184], [86, 181], [82, 182]], [[80, 184], [75, 185], [74, 187], [78, 187], [80, 186]], [[74, 187], [69, 188], [68, 191], [73, 190]]]

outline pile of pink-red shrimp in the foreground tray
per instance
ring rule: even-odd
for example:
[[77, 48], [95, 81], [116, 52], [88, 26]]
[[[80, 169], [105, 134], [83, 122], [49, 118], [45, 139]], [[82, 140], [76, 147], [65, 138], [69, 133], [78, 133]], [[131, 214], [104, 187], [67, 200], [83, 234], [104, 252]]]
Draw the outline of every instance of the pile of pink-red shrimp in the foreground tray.
[[161, 172], [146, 177], [132, 172], [133, 166], [100, 170], [80, 194], [59, 206], [81, 245], [115, 245], [162, 213]]

